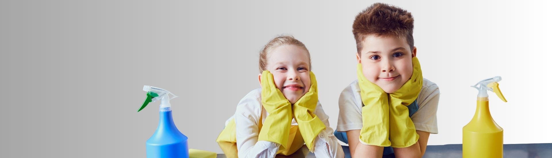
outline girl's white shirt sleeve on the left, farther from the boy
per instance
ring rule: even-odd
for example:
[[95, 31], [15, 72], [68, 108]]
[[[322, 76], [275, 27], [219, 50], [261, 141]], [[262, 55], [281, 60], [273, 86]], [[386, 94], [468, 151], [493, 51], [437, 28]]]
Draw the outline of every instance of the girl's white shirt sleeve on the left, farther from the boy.
[[235, 113], [238, 157], [275, 157], [280, 144], [258, 141], [261, 91], [253, 90], [238, 103]]

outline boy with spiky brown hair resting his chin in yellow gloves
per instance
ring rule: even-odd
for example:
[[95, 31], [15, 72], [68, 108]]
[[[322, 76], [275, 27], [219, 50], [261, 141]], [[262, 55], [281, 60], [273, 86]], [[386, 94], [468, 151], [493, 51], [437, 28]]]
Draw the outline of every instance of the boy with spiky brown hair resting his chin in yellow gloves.
[[383, 3], [354, 20], [358, 80], [339, 96], [337, 125], [352, 157], [382, 157], [384, 146], [396, 157], [422, 157], [429, 133], [437, 133], [439, 88], [422, 78], [413, 21], [411, 13]]

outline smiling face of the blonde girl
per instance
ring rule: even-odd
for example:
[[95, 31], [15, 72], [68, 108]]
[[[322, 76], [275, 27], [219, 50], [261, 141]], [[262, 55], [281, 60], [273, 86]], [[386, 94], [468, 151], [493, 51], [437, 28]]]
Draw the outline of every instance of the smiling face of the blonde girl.
[[267, 70], [274, 76], [274, 85], [292, 104], [309, 91], [309, 61], [307, 51], [295, 45], [279, 46], [267, 56]]

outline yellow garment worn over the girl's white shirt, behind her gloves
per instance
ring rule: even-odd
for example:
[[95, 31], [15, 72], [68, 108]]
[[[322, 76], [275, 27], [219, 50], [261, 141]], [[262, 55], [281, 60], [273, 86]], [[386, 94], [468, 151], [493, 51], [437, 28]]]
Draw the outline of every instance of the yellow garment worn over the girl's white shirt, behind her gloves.
[[[261, 119], [259, 119], [258, 127], [259, 130], [261, 130], [263, 127], [262, 114], [260, 118]], [[303, 146], [305, 142], [301, 138], [300, 131], [297, 129], [298, 128], [296, 125], [291, 125], [289, 129], [288, 146], [286, 146], [285, 148], [280, 146], [277, 154], [291, 155], [295, 151], [301, 149], [301, 146]], [[238, 157], [238, 150], [236, 145], [236, 123], [234, 119], [230, 120], [224, 130], [222, 130], [219, 137], [216, 139], [216, 142], [219, 144], [220, 149], [222, 149], [222, 152], [224, 152], [224, 155], [226, 155], [226, 157]]]

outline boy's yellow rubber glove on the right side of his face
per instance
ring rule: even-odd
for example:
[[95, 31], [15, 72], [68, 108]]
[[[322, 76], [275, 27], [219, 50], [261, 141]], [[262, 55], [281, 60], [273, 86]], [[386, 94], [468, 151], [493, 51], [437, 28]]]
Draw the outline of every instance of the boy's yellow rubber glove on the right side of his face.
[[410, 80], [397, 91], [389, 93], [389, 138], [394, 148], [414, 145], [420, 138], [406, 107], [418, 98], [423, 85], [422, 69], [417, 57], [412, 57], [412, 68]]

